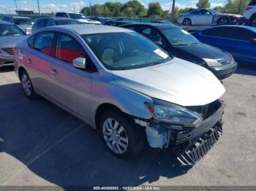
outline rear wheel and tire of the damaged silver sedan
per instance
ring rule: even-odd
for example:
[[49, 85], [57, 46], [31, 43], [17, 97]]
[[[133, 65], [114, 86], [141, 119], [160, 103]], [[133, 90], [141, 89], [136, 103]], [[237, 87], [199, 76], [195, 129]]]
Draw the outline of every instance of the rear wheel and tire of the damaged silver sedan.
[[20, 81], [26, 97], [29, 99], [35, 99], [37, 94], [34, 92], [34, 87], [32, 85], [29, 74], [25, 70], [20, 74]]

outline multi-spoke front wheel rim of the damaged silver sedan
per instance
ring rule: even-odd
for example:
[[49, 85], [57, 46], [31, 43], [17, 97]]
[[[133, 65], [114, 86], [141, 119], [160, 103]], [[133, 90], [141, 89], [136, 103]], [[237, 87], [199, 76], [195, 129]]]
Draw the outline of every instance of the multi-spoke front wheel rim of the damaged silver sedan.
[[115, 119], [103, 122], [102, 133], [108, 147], [116, 154], [123, 154], [128, 148], [128, 136], [124, 127]]

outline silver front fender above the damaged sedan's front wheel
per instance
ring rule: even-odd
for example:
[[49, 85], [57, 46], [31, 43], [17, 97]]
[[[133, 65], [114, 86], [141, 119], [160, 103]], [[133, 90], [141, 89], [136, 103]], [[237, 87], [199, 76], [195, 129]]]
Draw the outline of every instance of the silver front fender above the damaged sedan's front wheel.
[[[101, 78], [101, 77], [96, 77]], [[91, 116], [91, 122], [96, 127], [95, 114], [97, 109], [102, 104], [112, 104], [118, 107], [122, 112], [134, 117], [143, 118], [145, 120], [151, 119], [151, 114], [146, 109], [145, 103], [153, 103], [153, 100], [148, 95], [138, 93], [135, 90], [129, 89], [122, 85], [118, 85], [114, 80], [104, 78], [94, 80], [92, 87], [92, 106], [94, 114]]]

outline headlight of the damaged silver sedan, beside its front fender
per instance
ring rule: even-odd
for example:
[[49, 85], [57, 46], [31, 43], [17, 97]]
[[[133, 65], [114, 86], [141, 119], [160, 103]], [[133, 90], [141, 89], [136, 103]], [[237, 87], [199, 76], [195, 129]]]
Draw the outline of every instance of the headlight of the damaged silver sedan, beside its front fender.
[[195, 112], [165, 101], [154, 99], [154, 104], [146, 103], [146, 108], [155, 119], [176, 125], [195, 126], [203, 120]]

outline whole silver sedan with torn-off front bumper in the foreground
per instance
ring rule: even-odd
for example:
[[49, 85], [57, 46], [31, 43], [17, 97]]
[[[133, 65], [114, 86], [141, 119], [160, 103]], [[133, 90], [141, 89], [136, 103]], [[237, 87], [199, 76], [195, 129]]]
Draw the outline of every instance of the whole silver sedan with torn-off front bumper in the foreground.
[[[180, 163], [192, 165], [222, 132], [225, 88], [214, 74], [126, 28], [42, 28], [17, 45], [15, 72], [28, 98], [42, 95], [98, 129], [117, 157], [138, 154], [147, 140], [178, 147]], [[200, 156], [186, 159], [193, 152]]]

